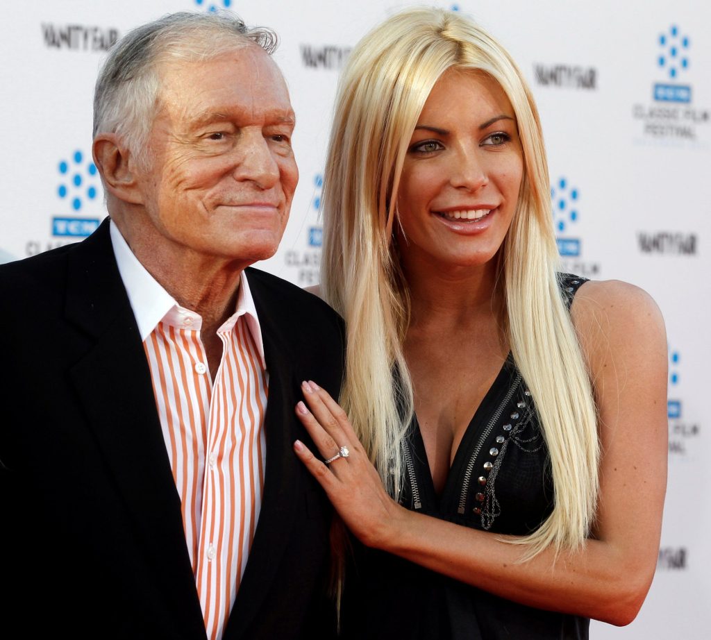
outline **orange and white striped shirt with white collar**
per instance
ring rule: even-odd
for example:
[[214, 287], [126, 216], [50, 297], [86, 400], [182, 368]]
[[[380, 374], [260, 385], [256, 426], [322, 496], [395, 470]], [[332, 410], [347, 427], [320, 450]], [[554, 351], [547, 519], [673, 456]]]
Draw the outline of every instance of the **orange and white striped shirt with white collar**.
[[257, 313], [242, 274], [235, 314], [218, 329], [223, 355], [211, 380], [201, 317], [179, 306], [111, 229], [144, 340], [205, 629], [217, 640], [247, 565], [264, 485], [267, 371]]

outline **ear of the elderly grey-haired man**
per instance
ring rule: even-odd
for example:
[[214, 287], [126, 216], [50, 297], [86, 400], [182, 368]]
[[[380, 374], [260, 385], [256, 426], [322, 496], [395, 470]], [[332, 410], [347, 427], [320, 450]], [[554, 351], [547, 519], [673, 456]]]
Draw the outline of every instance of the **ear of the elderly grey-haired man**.
[[136, 176], [136, 160], [116, 134], [99, 134], [92, 145], [94, 164], [107, 191], [124, 202], [143, 204]]

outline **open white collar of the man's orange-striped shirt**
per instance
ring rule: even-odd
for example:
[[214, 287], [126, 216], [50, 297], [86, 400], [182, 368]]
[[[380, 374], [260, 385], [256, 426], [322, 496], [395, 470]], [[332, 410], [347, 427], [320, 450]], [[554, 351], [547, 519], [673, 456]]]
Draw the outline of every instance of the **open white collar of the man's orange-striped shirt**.
[[[161, 284], [149, 274], [146, 267], [141, 265], [141, 262], [139, 262], [139, 259], [134, 255], [126, 240], [124, 240], [113, 220], [109, 222], [109, 233], [111, 235], [111, 244], [114, 248], [116, 264], [119, 267], [119, 274], [124, 282], [124, 287], [126, 287], [129, 302], [136, 317], [141, 341], [144, 341], [166, 316], [169, 316], [169, 314], [174, 316], [175, 311], [185, 314], [186, 310], [181, 309], [181, 306], [173, 299], [171, 294], [161, 287]], [[199, 330], [200, 316], [194, 311], [188, 310], [187, 312], [196, 319], [193, 329]], [[231, 331], [237, 318], [242, 315], [247, 316], [247, 326], [260, 354], [262, 368], [266, 369], [260, 321], [257, 317], [257, 308], [252, 298], [250, 284], [247, 282], [244, 271], [240, 274], [240, 293], [237, 295], [237, 309], [225, 321], [223, 326], [220, 326], [218, 333], [220, 331]]]

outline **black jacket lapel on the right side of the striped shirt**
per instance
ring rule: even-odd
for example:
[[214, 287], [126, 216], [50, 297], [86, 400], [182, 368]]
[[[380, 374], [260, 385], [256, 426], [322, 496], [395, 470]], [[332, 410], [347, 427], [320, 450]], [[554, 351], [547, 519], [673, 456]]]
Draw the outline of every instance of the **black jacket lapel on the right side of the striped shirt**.
[[[249, 271], [247, 275], [249, 277]], [[299, 388], [289, 358], [293, 349], [284, 343], [279, 331], [279, 310], [273, 307], [268, 296], [262, 294], [259, 282], [253, 278], [250, 278], [250, 291], [260, 320], [264, 358], [269, 372], [269, 395], [264, 415], [267, 464], [255, 539], [230, 612], [225, 640], [244, 637], [257, 614], [289, 543], [299, 504], [298, 496], [301, 494], [302, 469], [292, 450], [292, 443], [298, 437], [294, 406], [295, 393]]]

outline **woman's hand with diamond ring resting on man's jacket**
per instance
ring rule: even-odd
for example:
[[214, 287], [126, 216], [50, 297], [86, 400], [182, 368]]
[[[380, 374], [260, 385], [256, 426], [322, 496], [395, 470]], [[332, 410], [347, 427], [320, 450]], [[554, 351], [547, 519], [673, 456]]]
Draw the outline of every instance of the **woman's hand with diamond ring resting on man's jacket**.
[[341, 447], [348, 449], [348, 455], [324, 464], [299, 440], [294, 442], [296, 455], [324, 487], [351, 532], [365, 545], [382, 546], [393, 535], [395, 524], [407, 518], [407, 510], [383, 489], [378, 471], [353, 432], [346, 412], [314, 382], [301, 383], [301, 390], [308, 407], [299, 402], [296, 415], [321, 456], [332, 458]]

